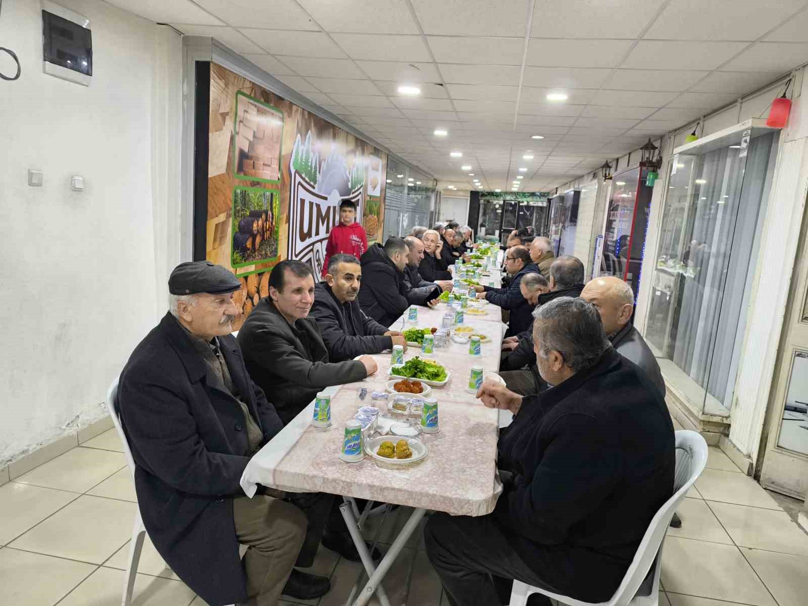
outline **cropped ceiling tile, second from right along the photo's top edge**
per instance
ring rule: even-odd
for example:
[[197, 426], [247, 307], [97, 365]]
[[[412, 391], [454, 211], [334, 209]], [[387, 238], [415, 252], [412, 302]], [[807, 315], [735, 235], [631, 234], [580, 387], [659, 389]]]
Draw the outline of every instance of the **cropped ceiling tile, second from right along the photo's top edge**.
[[531, 36], [636, 38], [663, 0], [546, 0], [533, 11]]

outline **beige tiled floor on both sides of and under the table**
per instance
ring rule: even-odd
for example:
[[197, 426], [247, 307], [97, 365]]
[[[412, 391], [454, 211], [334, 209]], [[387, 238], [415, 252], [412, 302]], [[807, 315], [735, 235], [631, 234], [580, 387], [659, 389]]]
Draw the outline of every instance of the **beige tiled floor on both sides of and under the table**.
[[[660, 606], [808, 604], [808, 535], [778, 503], [796, 502], [772, 498], [723, 452], [710, 448], [708, 469], [680, 507], [683, 526], [671, 529], [665, 541]], [[120, 604], [136, 507], [115, 430], [0, 486], [0, 601]], [[366, 536], [379, 531], [381, 541], [389, 542], [408, 514], [402, 507], [383, 524], [372, 520]], [[413, 558], [408, 603], [446, 606], [417, 536], [387, 576], [391, 602], [401, 604]], [[321, 549], [311, 571], [329, 576], [332, 588], [322, 600], [303, 604], [332, 606], [344, 604], [360, 566]], [[204, 606], [148, 540], [133, 604]]]

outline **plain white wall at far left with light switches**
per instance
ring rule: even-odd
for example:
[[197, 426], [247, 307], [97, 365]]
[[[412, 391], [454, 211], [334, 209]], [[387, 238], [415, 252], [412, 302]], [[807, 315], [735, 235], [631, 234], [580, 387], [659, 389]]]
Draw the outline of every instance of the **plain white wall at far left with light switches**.
[[[39, 0], [5, 0], [0, 15], [23, 69], [0, 82], [0, 467], [103, 416], [107, 385], [165, 309], [154, 277], [158, 26], [99, 0], [61, 4], [90, 19], [89, 87], [42, 73]], [[27, 186], [28, 168], [44, 171], [44, 187]], [[70, 175], [85, 191], [70, 191]]]

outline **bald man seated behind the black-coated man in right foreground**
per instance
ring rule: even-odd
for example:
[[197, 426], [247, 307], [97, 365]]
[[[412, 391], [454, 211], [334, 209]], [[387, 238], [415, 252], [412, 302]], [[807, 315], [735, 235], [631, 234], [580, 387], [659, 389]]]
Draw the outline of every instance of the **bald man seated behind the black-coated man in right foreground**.
[[656, 357], [631, 323], [634, 293], [629, 284], [616, 276], [595, 278], [583, 287], [581, 298], [589, 301], [600, 312], [604, 332], [612, 342], [612, 347], [621, 356], [642, 368], [664, 398], [665, 380]]

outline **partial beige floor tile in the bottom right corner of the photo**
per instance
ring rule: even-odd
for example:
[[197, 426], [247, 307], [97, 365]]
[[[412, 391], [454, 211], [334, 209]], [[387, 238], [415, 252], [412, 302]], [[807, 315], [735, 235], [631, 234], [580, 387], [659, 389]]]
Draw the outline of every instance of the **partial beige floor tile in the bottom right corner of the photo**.
[[780, 606], [805, 606], [808, 595], [808, 558], [788, 553], [741, 548], [752, 568], [772, 591]]

